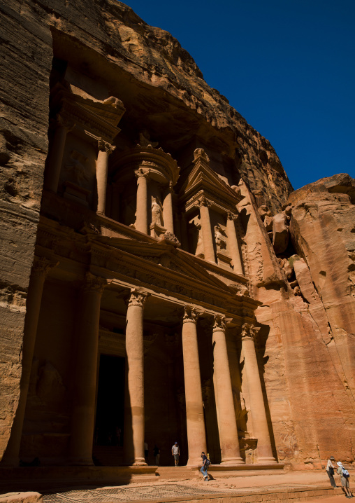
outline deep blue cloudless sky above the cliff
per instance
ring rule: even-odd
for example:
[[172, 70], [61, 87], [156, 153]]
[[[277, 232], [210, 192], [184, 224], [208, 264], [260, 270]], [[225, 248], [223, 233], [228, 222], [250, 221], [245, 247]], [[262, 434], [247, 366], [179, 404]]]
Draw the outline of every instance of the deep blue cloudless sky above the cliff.
[[355, 177], [355, 0], [129, 0], [275, 148], [291, 184]]

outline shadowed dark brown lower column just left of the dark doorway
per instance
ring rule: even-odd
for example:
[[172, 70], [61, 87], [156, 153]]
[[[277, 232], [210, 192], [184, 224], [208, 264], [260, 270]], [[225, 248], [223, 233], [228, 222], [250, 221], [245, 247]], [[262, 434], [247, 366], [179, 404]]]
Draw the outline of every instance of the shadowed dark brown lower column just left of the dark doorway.
[[71, 416], [71, 463], [93, 464], [97, 352], [99, 347], [100, 304], [107, 281], [87, 273], [81, 290], [75, 333], [76, 354]]

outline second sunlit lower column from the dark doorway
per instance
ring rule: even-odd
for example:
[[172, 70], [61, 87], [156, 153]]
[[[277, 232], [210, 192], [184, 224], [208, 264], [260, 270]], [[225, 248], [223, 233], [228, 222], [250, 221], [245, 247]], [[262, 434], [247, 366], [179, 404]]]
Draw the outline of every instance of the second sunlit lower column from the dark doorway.
[[189, 446], [187, 464], [198, 464], [201, 462], [201, 452], [207, 452], [200, 362], [198, 359], [197, 319], [198, 312], [196, 309], [185, 305], [182, 323], [182, 352], [184, 357], [187, 443]]

